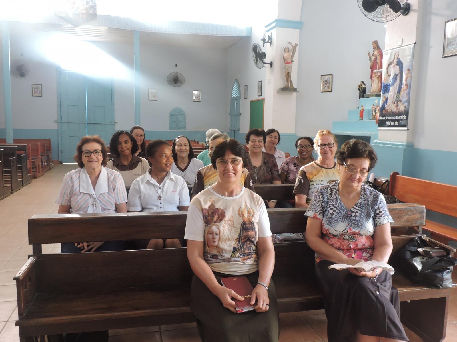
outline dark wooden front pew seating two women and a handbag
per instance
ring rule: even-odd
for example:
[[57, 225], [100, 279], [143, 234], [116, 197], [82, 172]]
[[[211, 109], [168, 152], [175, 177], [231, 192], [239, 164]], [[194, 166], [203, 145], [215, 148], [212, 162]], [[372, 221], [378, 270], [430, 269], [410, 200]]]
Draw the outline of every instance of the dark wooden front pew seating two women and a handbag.
[[[388, 207], [393, 227], [425, 221], [423, 206]], [[273, 233], [302, 232], [303, 213], [300, 208], [269, 209]], [[185, 221], [186, 212], [34, 215], [29, 219], [29, 243], [176, 238], [183, 236]], [[394, 251], [415, 236], [393, 237]], [[430, 239], [425, 242], [445, 248], [450, 255], [455, 251]], [[322, 295], [314, 280], [314, 252], [306, 242], [276, 244], [275, 252], [273, 280], [279, 311], [322, 309]], [[88, 273], [90, 281], [82, 281], [81, 275]], [[32, 341], [32, 335], [195, 321], [189, 307], [191, 277], [185, 248], [35, 254], [15, 277], [16, 326], [21, 341]], [[402, 322], [425, 341], [441, 341], [450, 290], [412, 284], [399, 274], [393, 276], [393, 284], [399, 290]]]

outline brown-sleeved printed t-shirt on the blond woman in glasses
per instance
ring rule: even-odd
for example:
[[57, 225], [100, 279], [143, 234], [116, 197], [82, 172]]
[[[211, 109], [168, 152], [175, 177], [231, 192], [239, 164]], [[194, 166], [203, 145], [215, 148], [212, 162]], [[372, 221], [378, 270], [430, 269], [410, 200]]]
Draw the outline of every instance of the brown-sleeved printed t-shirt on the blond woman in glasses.
[[324, 167], [313, 161], [302, 166], [298, 171], [293, 195], [306, 195], [306, 204], [309, 205], [317, 189], [339, 180], [340, 170], [338, 170], [336, 162], [334, 167]]

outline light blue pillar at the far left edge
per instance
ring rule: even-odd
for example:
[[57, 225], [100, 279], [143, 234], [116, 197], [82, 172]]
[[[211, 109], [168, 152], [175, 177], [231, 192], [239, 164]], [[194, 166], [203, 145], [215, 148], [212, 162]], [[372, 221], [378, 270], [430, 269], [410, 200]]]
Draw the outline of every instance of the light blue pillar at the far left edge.
[[3, 52], [3, 97], [5, 101], [6, 143], [13, 143], [13, 115], [11, 113], [11, 79], [10, 79], [10, 26], [2, 22]]

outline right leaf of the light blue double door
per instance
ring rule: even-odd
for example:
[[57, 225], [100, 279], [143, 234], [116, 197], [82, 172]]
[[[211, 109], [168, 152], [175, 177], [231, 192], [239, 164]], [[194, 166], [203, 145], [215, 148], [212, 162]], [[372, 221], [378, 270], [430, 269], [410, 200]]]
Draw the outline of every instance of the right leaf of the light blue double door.
[[109, 145], [114, 134], [114, 103], [111, 79], [86, 78], [87, 134], [100, 135]]

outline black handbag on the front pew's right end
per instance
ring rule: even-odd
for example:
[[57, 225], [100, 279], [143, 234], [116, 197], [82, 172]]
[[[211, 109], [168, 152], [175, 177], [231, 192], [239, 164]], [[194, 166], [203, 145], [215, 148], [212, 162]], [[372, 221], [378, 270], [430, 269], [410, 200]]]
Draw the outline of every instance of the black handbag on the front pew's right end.
[[395, 255], [395, 268], [414, 283], [431, 289], [452, 288], [452, 267], [457, 259], [451, 256], [429, 258], [417, 249], [427, 247], [419, 237], [411, 240]]

